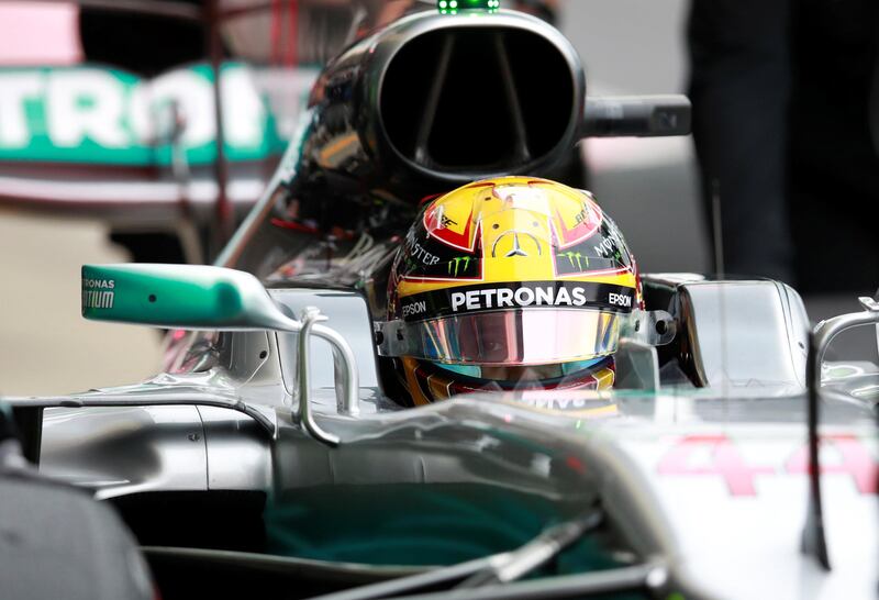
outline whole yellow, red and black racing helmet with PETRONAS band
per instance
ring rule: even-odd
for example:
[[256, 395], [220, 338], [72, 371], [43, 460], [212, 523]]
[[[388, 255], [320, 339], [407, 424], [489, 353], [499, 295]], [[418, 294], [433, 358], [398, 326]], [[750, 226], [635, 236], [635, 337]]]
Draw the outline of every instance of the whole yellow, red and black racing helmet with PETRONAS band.
[[391, 266], [380, 353], [415, 404], [613, 385], [637, 268], [593, 197], [534, 177], [425, 202]]

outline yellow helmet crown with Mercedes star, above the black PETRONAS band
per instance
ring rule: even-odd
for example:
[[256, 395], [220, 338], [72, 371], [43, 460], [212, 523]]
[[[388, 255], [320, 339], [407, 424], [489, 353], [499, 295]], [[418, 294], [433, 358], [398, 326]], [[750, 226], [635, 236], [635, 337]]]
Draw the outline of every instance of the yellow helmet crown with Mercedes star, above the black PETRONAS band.
[[515, 281], [636, 288], [623, 236], [594, 199], [534, 177], [476, 181], [433, 200], [394, 267], [399, 298]]

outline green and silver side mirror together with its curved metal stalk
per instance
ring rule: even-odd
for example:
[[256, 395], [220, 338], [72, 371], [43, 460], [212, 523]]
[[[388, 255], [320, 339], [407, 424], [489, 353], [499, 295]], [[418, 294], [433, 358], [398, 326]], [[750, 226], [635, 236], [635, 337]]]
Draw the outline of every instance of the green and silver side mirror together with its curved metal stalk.
[[169, 329], [299, 333], [300, 421], [314, 437], [336, 445], [338, 438], [322, 431], [309, 410], [309, 336], [322, 337], [333, 347], [340, 412], [359, 412], [359, 384], [351, 346], [318, 322], [324, 320], [319, 313], [310, 311], [304, 324], [287, 316], [256, 277], [240, 270], [201, 265], [82, 266], [86, 319]]

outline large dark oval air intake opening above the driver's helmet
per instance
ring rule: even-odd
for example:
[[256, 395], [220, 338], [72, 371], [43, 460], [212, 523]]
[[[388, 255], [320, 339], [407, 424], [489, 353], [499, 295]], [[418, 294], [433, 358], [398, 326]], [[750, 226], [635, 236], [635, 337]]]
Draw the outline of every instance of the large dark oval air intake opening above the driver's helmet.
[[401, 157], [434, 173], [526, 170], [579, 121], [567, 57], [538, 33], [446, 27], [413, 38], [385, 73], [380, 115]]

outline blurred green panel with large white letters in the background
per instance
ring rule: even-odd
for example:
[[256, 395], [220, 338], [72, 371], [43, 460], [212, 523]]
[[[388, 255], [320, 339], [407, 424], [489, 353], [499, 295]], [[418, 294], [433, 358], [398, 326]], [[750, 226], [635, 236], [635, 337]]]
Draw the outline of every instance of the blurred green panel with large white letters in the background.
[[[224, 149], [231, 162], [282, 154], [266, 98], [251, 84], [241, 63], [220, 67]], [[176, 102], [186, 126], [179, 145], [191, 166], [216, 155], [213, 123], [213, 69], [196, 64], [155, 79], [102, 66], [0, 69], [0, 162], [169, 166], [169, 135], [162, 108]], [[165, 113], [167, 121], [167, 114]]]

